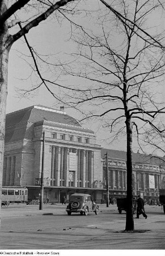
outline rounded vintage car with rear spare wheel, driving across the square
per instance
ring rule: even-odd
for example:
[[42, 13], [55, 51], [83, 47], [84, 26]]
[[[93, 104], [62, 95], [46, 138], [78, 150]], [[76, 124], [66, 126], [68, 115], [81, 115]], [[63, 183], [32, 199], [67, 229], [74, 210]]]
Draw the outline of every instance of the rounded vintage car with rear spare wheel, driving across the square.
[[84, 214], [85, 216], [87, 216], [88, 212], [99, 214], [99, 205], [92, 201], [90, 195], [74, 193], [70, 196], [66, 212], [68, 215], [71, 215], [72, 212]]

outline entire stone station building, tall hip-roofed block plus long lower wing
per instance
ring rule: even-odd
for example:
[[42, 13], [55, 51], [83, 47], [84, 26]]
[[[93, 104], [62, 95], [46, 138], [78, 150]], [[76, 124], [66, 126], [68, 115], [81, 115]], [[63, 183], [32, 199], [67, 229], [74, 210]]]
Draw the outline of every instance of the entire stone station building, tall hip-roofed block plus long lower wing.
[[[108, 183], [111, 197], [126, 196], [126, 152], [107, 150], [96, 136], [64, 112], [31, 106], [6, 115], [3, 186], [26, 186], [29, 200], [40, 196], [44, 146], [44, 200], [60, 202], [71, 193], [90, 193], [100, 203]], [[162, 159], [133, 153], [134, 195], [158, 199], [165, 188]]]

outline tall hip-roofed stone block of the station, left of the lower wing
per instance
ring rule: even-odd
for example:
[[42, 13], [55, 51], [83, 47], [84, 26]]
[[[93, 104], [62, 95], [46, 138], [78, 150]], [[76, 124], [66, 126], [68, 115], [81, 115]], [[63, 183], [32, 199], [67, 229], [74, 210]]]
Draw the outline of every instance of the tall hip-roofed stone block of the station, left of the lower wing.
[[60, 201], [73, 192], [88, 192], [101, 200], [101, 147], [94, 132], [62, 108], [32, 106], [6, 115], [3, 185], [26, 186], [29, 199], [39, 197], [43, 131], [44, 198]]

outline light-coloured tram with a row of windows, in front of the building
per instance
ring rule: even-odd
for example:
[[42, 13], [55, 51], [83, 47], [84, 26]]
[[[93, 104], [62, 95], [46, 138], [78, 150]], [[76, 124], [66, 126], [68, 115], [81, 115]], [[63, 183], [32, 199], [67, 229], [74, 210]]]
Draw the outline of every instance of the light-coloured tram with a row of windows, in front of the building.
[[2, 203], [26, 203], [27, 201], [28, 189], [26, 187], [2, 187]]

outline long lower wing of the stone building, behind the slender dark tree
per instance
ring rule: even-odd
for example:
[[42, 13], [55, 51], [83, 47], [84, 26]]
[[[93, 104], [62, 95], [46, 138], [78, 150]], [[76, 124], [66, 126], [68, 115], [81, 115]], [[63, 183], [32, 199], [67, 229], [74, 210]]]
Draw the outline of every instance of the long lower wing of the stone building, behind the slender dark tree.
[[[103, 163], [103, 180], [107, 179], [108, 154], [108, 183], [111, 197], [126, 195], [126, 152], [119, 150], [101, 150]], [[144, 199], [158, 199], [159, 189], [165, 188], [165, 158], [152, 155], [132, 153], [133, 158], [133, 195], [141, 195]], [[105, 182], [104, 182], [105, 188]], [[104, 198], [105, 198], [104, 193]]]

